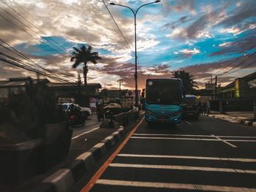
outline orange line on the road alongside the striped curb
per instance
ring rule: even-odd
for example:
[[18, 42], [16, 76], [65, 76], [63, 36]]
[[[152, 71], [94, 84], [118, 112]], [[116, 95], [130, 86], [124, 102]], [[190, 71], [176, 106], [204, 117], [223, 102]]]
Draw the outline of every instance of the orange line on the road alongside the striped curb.
[[81, 192], [88, 192], [91, 190], [91, 188], [95, 185], [97, 180], [99, 180], [99, 177], [105, 172], [105, 170], [108, 168], [108, 166], [111, 164], [114, 158], [116, 158], [116, 155], [120, 152], [120, 150], [124, 147], [124, 145], [127, 144], [129, 138], [132, 136], [132, 134], [137, 131], [138, 127], [143, 123], [144, 118], [140, 120], [140, 122], [135, 126], [135, 128], [132, 129], [132, 131], [129, 133], [126, 139], [121, 143], [121, 145], [118, 146], [118, 148], [110, 155], [110, 158], [108, 158], [107, 161], [105, 161], [105, 164], [103, 164], [99, 170], [94, 174], [93, 177], [91, 177], [91, 180], [89, 180], [89, 183], [86, 184], [86, 186], [81, 190]]

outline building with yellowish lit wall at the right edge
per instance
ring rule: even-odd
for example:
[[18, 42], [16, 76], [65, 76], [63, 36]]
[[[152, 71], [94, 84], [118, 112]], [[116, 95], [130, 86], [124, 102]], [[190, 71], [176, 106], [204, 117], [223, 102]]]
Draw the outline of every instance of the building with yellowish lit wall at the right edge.
[[222, 99], [255, 99], [256, 72], [230, 82], [219, 90], [218, 96]]

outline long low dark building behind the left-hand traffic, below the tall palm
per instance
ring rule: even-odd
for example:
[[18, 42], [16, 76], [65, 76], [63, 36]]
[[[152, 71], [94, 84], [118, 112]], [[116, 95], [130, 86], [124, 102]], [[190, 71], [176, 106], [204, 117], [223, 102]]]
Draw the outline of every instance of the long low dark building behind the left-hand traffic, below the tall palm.
[[[47, 79], [33, 80], [31, 77], [9, 78], [0, 81], [0, 102], [6, 102], [10, 93], [20, 93], [26, 91], [27, 86], [35, 84], [47, 85], [49, 90], [62, 102], [69, 102], [75, 99], [83, 107], [90, 107], [91, 102], [97, 102], [99, 83], [88, 83], [88, 85], [78, 86], [77, 82], [50, 82]], [[95, 105], [95, 104], [92, 104]]]

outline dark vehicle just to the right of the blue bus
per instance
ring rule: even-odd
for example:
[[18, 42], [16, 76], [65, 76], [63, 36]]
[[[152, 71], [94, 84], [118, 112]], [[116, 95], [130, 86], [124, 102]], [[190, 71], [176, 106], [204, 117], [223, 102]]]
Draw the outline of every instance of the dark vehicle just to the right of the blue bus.
[[186, 95], [182, 98], [182, 117], [192, 117], [196, 120], [199, 118], [199, 105], [195, 95]]

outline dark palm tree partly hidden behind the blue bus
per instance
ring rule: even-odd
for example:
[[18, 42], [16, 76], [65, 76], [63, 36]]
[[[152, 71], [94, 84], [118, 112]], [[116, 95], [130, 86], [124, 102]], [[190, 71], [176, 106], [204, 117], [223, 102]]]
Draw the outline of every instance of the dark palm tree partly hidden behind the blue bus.
[[195, 88], [198, 88], [197, 82], [193, 79], [194, 76], [189, 74], [189, 72], [185, 72], [184, 70], [173, 71], [173, 77], [182, 80], [184, 94], [192, 93], [195, 91]]

